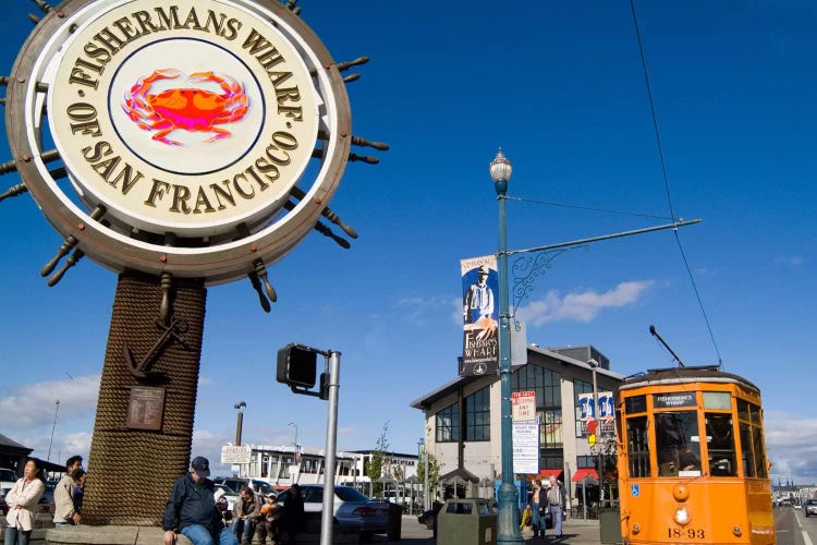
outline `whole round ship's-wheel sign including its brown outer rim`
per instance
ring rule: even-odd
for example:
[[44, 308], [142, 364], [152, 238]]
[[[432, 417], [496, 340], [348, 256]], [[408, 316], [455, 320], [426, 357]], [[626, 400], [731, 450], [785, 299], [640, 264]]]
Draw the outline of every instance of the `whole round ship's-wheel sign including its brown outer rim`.
[[[15, 157], [33, 159], [26, 186], [114, 270], [214, 283], [269, 265], [308, 234], [349, 155], [340, 74], [273, 0], [72, 0], [37, 26], [13, 78], [25, 85], [10, 88], [7, 126]], [[68, 180], [49, 173], [44, 135]]]

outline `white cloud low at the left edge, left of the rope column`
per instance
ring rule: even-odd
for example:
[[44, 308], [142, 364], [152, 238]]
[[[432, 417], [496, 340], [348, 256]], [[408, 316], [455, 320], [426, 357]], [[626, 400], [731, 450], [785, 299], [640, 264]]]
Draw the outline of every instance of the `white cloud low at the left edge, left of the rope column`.
[[58, 420], [92, 415], [99, 395], [99, 374], [25, 385], [0, 399], [4, 429], [29, 429], [50, 424], [59, 400]]

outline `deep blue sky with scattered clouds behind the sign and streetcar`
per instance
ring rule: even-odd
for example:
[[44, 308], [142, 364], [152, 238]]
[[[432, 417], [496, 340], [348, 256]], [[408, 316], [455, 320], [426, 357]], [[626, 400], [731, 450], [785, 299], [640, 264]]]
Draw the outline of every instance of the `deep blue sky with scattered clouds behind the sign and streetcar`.
[[[218, 460], [244, 400], [244, 440], [321, 447], [326, 403], [275, 382], [278, 348], [342, 352], [338, 446], [370, 449], [388, 423], [414, 452], [408, 403], [452, 379], [461, 352], [459, 259], [497, 249], [488, 164], [513, 162], [509, 245], [639, 229], [670, 216], [630, 3], [303, 0], [336, 60], [371, 61], [349, 85], [353, 133], [386, 141], [351, 164], [331, 203], [361, 234], [344, 251], [314, 233], [270, 269], [265, 314], [248, 281], [208, 292], [194, 451]], [[722, 359], [763, 391], [772, 479], [817, 482], [807, 371], [816, 329], [817, 7], [636, 1], [669, 187], [711, 324], [671, 231], [559, 256], [522, 303], [528, 342], [592, 343], [630, 375]], [[32, 24], [5, 5], [0, 72]], [[4, 136], [0, 159], [10, 159]], [[1, 149], [5, 150], [2, 156]], [[0, 191], [19, 182], [0, 178]], [[87, 453], [115, 275], [85, 259], [60, 284], [38, 275], [61, 239], [27, 195], [0, 204], [0, 433]]]

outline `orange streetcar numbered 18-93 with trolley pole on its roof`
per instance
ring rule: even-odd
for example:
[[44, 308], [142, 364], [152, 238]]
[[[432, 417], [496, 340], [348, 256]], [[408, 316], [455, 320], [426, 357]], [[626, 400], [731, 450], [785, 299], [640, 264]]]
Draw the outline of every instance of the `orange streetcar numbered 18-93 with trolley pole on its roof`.
[[615, 404], [624, 543], [777, 543], [755, 385], [717, 366], [650, 370]]

